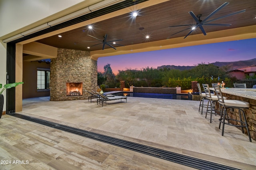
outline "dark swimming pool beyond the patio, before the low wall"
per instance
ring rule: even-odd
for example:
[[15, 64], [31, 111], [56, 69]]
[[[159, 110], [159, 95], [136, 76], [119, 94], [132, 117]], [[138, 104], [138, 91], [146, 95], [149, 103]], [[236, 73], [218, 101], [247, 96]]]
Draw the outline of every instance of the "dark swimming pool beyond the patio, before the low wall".
[[115, 93], [114, 95], [116, 95], [116, 96], [140, 97], [140, 98], [160, 98], [160, 99], [188, 100], [188, 95], [187, 94], [119, 92], [119, 93]]

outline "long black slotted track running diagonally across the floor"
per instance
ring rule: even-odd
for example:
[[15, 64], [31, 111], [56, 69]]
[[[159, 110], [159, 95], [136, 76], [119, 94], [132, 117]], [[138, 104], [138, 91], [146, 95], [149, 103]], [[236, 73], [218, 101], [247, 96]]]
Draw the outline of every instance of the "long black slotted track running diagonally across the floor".
[[90, 138], [90, 139], [94, 139], [94, 140], [97, 140], [97, 141], [101, 141], [101, 142], [104, 142], [104, 143], [108, 143], [108, 144], [111, 144], [111, 145], [115, 145], [115, 146], [118, 146], [118, 147], [122, 147], [122, 148], [125, 148], [125, 149], [133, 150], [133, 151], [140, 152], [140, 153], [143, 153], [143, 154], [148, 154], [150, 156], [154, 156], [154, 157], [157, 157], [157, 158], [161, 158], [161, 159], [168, 160], [168, 161], [171, 161], [171, 162], [175, 162], [175, 163], [178, 163], [178, 164], [182, 164], [182, 165], [185, 165], [185, 166], [190, 166], [192, 168], [196, 168], [196, 169], [199, 169], [199, 170], [239, 170], [237, 168], [232, 168], [232, 167], [229, 167], [229, 166], [216, 164], [214, 162], [209, 162], [209, 161], [201, 160], [201, 159], [198, 159], [198, 158], [193, 158], [193, 157], [190, 157], [190, 156], [177, 154], [177, 153], [174, 153], [174, 152], [170, 152], [170, 151], [166, 151], [166, 150], [162, 150], [162, 149], [157, 149], [157, 148], [154, 148], [154, 147], [149, 147], [149, 146], [146, 146], [146, 145], [141, 145], [141, 144], [138, 144], [138, 143], [129, 142], [129, 141], [125, 141], [125, 140], [122, 140], [122, 139], [117, 139], [117, 138], [114, 138], [114, 137], [109, 137], [109, 136], [106, 136], [106, 135], [101, 135], [101, 134], [98, 134], [98, 133], [85, 131], [85, 130], [74, 128], [74, 127], [69, 127], [69, 126], [66, 126], [66, 125], [61, 125], [61, 124], [58, 124], [58, 123], [38, 119], [38, 118], [35, 118], [35, 117], [21, 115], [21, 114], [18, 114], [18, 113], [10, 113], [8, 115], [18, 117], [18, 118], [21, 118], [21, 119], [25, 119], [25, 120], [28, 120], [28, 121], [32, 121], [34, 123], [39, 123], [41, 125], [45, 125], [45, 126], [52, 127], [52, 128], [55, 128], [55, 129], [59, 129], [59, 130], [62, 130], [62, 131], [66, 131], [66, 132], [69, 132], [69, 133], [73, 133], [73, 134], [76, 134], [76, 135], [80, 135], [80, 136], [83, 136], [83, 137], [87, 137], [87, 138]]

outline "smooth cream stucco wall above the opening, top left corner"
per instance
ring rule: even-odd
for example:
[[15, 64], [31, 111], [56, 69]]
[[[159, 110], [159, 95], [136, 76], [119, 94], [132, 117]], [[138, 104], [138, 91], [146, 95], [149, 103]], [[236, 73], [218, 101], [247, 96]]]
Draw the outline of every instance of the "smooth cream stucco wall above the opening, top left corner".
[[[28, 27], [31, 29], [59, 18], [61, 16], [53, 15], [83, 1], [85, 0], [0, 0], [0, 37], [28, 25], [31, 25]], [[74, 11], [68, 13], [71, 12]], [[66, 13], [62, 12], [63, 14]], [[50, 18], [44, 21], [44, 18], [49, 16]]]

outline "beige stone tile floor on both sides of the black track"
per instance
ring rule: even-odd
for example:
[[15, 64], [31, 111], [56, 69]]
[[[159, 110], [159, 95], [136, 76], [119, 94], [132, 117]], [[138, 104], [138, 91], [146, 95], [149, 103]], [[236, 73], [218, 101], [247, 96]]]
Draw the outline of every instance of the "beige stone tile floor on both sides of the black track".
[[[210, 116], [205, 119], [205, 113], [201, 115], [198, 112], [198, 106], [199, 101], [128, 97], [127, 103], [115, 100], [104, 103], [104, 106], [101, 107], [101, 105], [96, 104], [96, 99], [92, 103], [88, 100], [53, 102], [49, 101], [49, 97], [42, 97], [24, 99], [23, 111], [18, 113], [227, 166], [240, 169], [256, 169], [256, 141], [252, 140], [252, 143], [250, 143], [247, 135], [242, 134], [239, 129], [232, 126], [225, 127], [224, 136], [222, 137], [221, 129], [218, 129], [219, 116], [214, 115], [213, 121], [210, 123]], [[124, 149], [116, 149], [118, 147], [107, 144], [101, 144], [100, 151], [94, 153], [99, 154], [102, 159], [92, 159], [96, 161], [97, 166], [95, 162], [92, 163], [92, 160], [89, 161], [90, 164], [84, 165], [84, 163], [79, 163], [78, 160], [72, 162], [72, 158], [63, 155], [69, 152], [73, 156], [83, 155], [83, 153], [73, 152], [76, 149], [79, 150], [80, 145], [80, 147], [82, 145], [96, 145], [99, 143], [98, 141], [84, 139], [84, 137], [60, 132], [59, 130], [52, 130], [50, 127], [20, 120], [10, 115], [2, 116], [0, 129], [1, 160], [6, 159], [6, 156], [10, 159], [17, 154], [18, 151], [13, 153], [10, 151], [14, 148], [15, 150], [22, 150], [28, 145], [30, 147], [36, 146], [36, 142], [32, 140], [34, 139], [43, 143], [42, 146], [47, 146], [45, 150], [42, 149], [42, 146], [37, 146], [40, 148], [37, 149], [42, 152], [39, 154], [40, 156], [36, 156], [36, 153], [33, 154], [32, 151], [29, 152], [28, 149], [22, 150], [22, 152], [29, 152], [33, 157], [33, 159], [30, 158], [31, 161], [33, 162], [36, 159], [34, 161], [37, 163], [34, 166], [38, 167], [49, 166], [51, 169], [56, 168], [57, 165], [58, 167], [65, 165], [78, 169], [125, 169], [121, 168], [125, 164], [127, 169], [165, 169], [169, 166], [175, 167], [173, 169], [189, 169], [189, 167], [134, 153], [133, 151], [124, 152], [121, 151]], [[18, 135], [21, 136], [20, 139], [16, 139], [17, 134], [14, 137], [11, 136], [17, 131]], [[52, 131], [52, 134], [49, 131]], [[45, 133], [45, 135], [41, 133]], [[62, 135], [58, 135], [60, 133]], [[50, 137], [51, 135], [53, 137]], [[65, 139], [65, 142], [62, 139]], [[76, 141], [77, 146], [74, 145], [74, 141]], [[63, 149], [65, 151], [60, 149], [65, 145], [67, 146], [66, 149]], [[60, 149], [64, 153], [57, 154], [58, 152], [55, 153], [52, 148]], [[104, 156], [111, 158], [111, 156], [117, 154], [110, 152], [110, 148], [115, 148], [115, 152], [118, 152], [118, 156], [114, 156], [115, 158], [124, 157], [124, 160], [113, 163], [114, 160], [106, 159]], [[52, 151], [49, 153], [46, 149]], [[129, 153], [129, 158], [126, 158], [127, 153]], [[50, 158], [44, 158], [48, 157], [47, 154], [50, 154]], [[57, 161], [59, 159], [62, 161], [68, 159], [68, 161], [66, 161], [66, 164], [60, 164]], [[141, 164], [142, 160], [144, 161], [143, 165]], [[155, 164], [152, 163], [154, 161], [156, 161]], [[12, 166], [14, 165], [6, 165], [5, 167]], [[29, 169], [28, 165], [16, 165], [15, 167], [20, 166]], [[32, 164], [29, 166], [34, 168]]]

